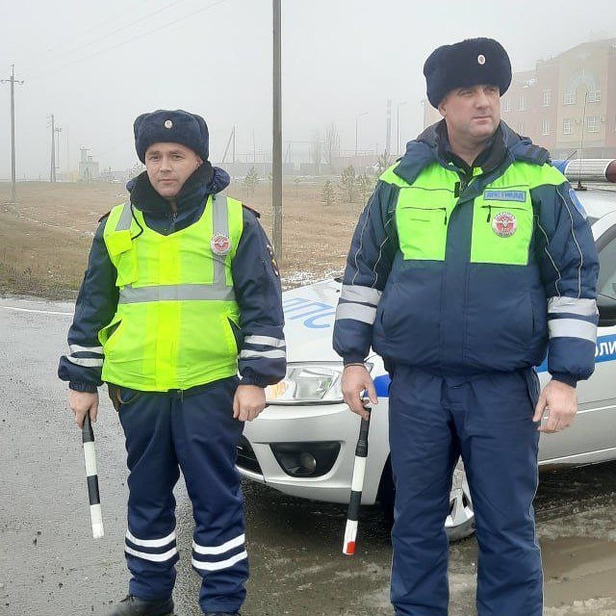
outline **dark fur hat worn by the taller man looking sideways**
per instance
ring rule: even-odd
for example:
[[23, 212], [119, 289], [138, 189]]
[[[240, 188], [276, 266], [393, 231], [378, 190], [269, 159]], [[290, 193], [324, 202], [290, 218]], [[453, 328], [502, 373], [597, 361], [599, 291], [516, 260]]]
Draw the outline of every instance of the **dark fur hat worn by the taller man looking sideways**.
[[428, 100], [438, 107], [456, 87], [491, 84], [502, 96], [511, 83], [511, 62], [505, 48], [490, 38], [474, 38], [437, 47], [424, 64]]

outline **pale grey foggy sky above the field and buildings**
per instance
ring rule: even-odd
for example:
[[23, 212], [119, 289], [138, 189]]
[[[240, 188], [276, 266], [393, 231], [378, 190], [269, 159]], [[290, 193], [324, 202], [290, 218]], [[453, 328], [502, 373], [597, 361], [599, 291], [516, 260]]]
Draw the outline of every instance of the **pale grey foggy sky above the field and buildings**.
[[[579, 43], [616, 36], [614, 0], [460, 2], [283, 0], [283, 142], [303, 158], [335, 123], [342, 149], [383, 150], [392, 100], [392, 145], [422, 126], [423, 62], [434, 47], [498, 39], [514, 71]], [[17, 177], [49, 177], [50, 115], [63, 131], [60, 170], [79, 147], [101, 169], [137, 161], [132, 121], [184, 108], [206, 118], [219, 161], [232, 127], [240, 160], [270, 152], [271, 0], [0, 0], [0, 78], [15, 86]], [[10, 87], [0, 86], [0, 179], [10, 177]]]

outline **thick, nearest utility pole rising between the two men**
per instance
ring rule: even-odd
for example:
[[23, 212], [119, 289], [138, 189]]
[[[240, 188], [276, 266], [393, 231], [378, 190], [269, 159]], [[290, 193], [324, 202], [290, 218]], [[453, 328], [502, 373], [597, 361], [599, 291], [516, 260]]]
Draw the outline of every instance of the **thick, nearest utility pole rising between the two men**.
[[281, 9], [280, 0], [273, 0], [274, 13], [274, 144], [272, 147], [272, 206], [274, 207], [274, 252], [282, 261], [282, 87], [280, 79]]

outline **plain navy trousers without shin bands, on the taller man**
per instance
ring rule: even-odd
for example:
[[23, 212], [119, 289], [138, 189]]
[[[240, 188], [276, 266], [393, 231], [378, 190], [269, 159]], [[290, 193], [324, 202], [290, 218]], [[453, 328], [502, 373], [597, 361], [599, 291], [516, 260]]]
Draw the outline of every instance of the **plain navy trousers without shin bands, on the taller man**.
[[389, 391], [395, 614], [447, 615], [444, 523], [462, 456], [479, 544], [477, 614], [541, 616], [543, 574], [532, 506], [538, 394], [533, 370], [464, 379], [395, 367]]

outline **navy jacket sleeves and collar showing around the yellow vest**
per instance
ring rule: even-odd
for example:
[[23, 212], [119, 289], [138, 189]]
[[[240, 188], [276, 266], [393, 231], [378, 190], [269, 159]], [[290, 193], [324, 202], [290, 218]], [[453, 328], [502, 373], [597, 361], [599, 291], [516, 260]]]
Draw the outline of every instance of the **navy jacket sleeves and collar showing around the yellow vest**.
[[[131, 203], [144, 213], [148, 227], [169, 235], [196, 222], [203, 214], [208, 195], [229, 185], [227, 172], [201, 165], [185, 182], [177, 196], [174, 215], [168, 201], [153, 189], [144, 171], [127, 188]], [[243, 231], [233, 259], [233, 286], [240, 306], [241, 331], [238, 334], [241, 383], [265, 386], [277, 383], [285, 375], [286, 361], [280, 349], [270, 349], [267, 341], [283, 341], [284, 316], [282, 290], [274, 253], [259, 221], [258, 214], [243, 208]], [[103, 240], [107, 216], [103, 216], [94, 235], [87, 270], [75, 306], [75, 317], [68, 332], [70, 353], [60, 358], [58, 376], [69, 381], [76, 391], [95, 391], [102, 384], [102, 348], [98, 334], [116, 312], [118, 288], [116, 269]], [[204, 238], [209, 248], [209, 238]], [[254, 338], [259, 336], [259, 338]], [[248, 339], [248, 340], [247, 340]], [[260, 340], [265, 344], [254, 344]], [[276, 352], [272, 353], [274, 350]], [[277, 355], [277, 357], [271, 357]]]

